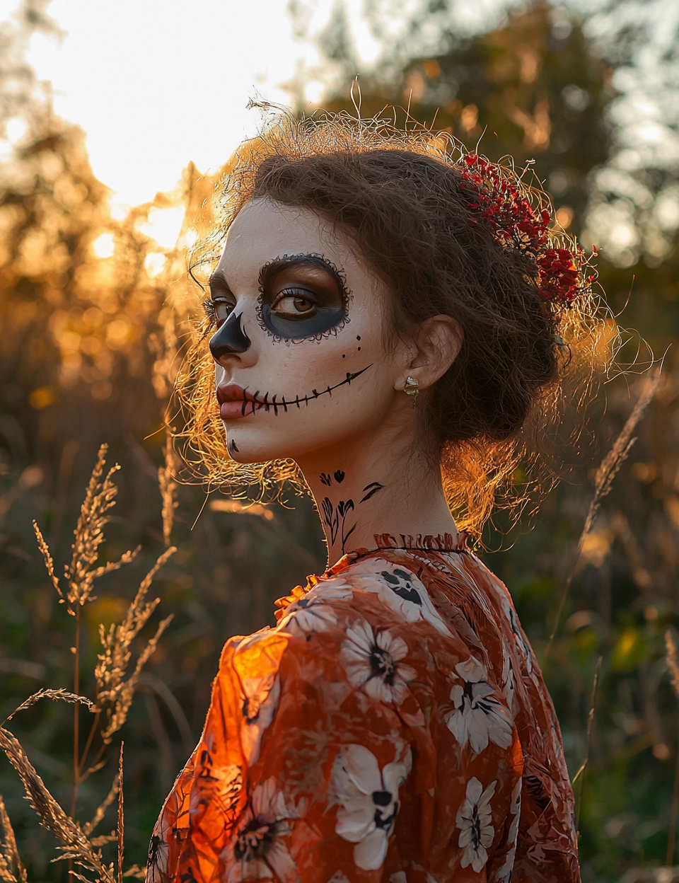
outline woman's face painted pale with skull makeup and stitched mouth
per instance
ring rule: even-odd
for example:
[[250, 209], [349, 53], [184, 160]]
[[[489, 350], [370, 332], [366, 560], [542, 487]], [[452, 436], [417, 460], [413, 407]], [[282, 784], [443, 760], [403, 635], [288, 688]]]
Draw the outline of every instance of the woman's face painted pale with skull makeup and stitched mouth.
[[313, 212], [247, 203], [210, 292], [216, 395], [238, 462], [343, 446], [407, 409], [395, 384], [409, 349], [390, 333], [389, 293]]

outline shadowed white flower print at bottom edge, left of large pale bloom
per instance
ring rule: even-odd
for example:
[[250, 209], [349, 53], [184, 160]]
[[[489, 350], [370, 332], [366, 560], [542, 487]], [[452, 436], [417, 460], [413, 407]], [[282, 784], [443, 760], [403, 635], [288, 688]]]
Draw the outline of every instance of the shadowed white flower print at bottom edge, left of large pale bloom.
[[290, 819], [297, 813], [289, 810], [274, 778], [261, 782], [253, 791], [230, 843], [221, 858], [229, 883], [241, 880], [276, 879], [298, 883], [297, 865], [282, 838], [290, 834]]

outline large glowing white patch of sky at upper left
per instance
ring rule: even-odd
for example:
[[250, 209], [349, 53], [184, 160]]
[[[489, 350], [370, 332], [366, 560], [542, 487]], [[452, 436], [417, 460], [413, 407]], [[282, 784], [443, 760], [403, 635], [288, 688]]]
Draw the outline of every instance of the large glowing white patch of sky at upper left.
[[[257, 125], [248, 99], [289, 102], [283, 84], [317, 64], [285, 0], [53, 0], [47, 11], [64, 38], [34, 36], [28, 60], [57, 113], [87, 132], [94, 173], [120, 203], [172, 189], [189, 160], [221, 165]], [[310, 79], [307, 97], [320, 95]]]

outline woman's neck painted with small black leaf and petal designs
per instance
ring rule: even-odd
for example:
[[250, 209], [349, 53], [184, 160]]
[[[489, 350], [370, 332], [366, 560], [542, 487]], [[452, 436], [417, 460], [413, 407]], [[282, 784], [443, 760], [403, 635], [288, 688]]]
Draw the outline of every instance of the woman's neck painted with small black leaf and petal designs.
[[[386, 437], [385, 437], [386, 436]], [[300, 457], [328, 544], [328, 566], [375, 534], [456, 533], [433, 469], [413, 439], [379, 432]]]

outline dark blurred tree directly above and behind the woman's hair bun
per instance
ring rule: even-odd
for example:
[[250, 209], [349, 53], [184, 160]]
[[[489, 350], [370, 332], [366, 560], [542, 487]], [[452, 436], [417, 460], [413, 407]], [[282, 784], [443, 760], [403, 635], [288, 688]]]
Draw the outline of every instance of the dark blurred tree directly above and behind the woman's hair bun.
[[[396, 106], [404, 121], [450, 132], [468, 149], [517, 166], [532, 163], [555, 198], [565, 229], [581, 226], [592, 168], [605, 162], [604, 109], [613, 95], [612, 69], [592, 55], [582, 25], [547, 4], [511, 12], [491, 34], [464, 40], [441, 35], [445, 49], [408, 61], [396, 81], [380, 69], [359, 79], [361, 114]], [[353, 112], [348, 84], [323, 107]]]

